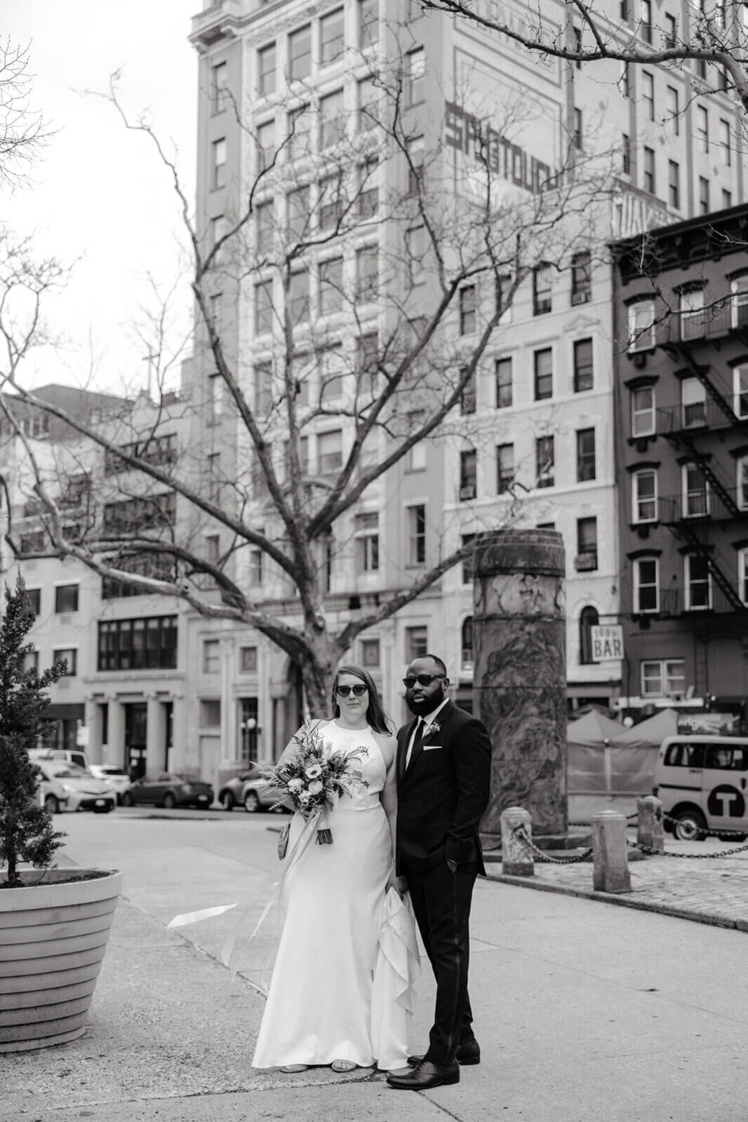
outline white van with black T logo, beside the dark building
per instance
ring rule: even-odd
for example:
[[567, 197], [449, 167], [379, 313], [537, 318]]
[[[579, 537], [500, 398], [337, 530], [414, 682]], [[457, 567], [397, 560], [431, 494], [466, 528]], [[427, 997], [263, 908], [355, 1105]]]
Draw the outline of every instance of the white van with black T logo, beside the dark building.
[[[739, 830], [724, 840], [748, 837], [748, 737], [668, 736], [659, 748], [653, 793], [676, 822], [676, 838], [703, 838], [704, 828]], [[745, 831], [745, 833], [742, 833]]]

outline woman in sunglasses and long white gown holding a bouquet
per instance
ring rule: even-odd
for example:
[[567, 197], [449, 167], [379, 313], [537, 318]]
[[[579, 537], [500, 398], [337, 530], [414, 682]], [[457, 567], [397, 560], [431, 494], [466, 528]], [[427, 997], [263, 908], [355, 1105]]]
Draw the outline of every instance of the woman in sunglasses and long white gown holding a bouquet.
[[[332, 717], [317, 728], [327, 751], [363, 749], [355, 766], [368, 785], [343, 794], [329, 813], [334, 844], [307, 846], [289, 870], [285, 920], [252, 1063], [284, 1072], [312, 1064], [336, 1072], [377, 1060], [392, 1066], [392, 1055], [375, 1054], [385, 1050], [378, 1040], [387, 1037], [389, 1014], [373, 1008], [380, 1003], [372, 995], [378, 992], [374, 974], [385, 893], [400, 888], [393, 865], [396, 741], [371, 674], [340, 666]], [[281, 760], [297, 751], [291, 741]], [[289, 854], [303, 826], [294, 815]]]

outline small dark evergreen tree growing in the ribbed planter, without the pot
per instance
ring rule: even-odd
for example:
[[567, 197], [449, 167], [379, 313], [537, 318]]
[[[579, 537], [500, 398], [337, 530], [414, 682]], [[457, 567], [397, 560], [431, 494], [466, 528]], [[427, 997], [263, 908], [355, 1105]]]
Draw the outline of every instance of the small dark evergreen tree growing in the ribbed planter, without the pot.
[[48, 723], [48, 686], [65, 673], [57, 662], [43, 673], [26, 670], [26, 656], [34, 646], [27, 636], [34, 610], [20, 572], [16, 590], [6, 585], [6, 610], [0, 619], [0, 864], [7, 863], [7, 879], [0, 888], [22, 885], [20, 862], [37, 868], [52, 862], [64, 834], [55, 830], [52, 817], [40, 804], [37, 787], [39, 769], [28, 754]]

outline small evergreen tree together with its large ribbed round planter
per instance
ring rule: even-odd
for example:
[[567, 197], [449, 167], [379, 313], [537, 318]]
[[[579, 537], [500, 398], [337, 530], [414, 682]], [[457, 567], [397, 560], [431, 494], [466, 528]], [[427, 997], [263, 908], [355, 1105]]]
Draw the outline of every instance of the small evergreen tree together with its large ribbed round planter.
[[[28, 751], [44, 733], [45, 688], [64, 663], [37, 674], [25, 661], [34, 613], [18, 576], [0, 619], [0, 1052], [66, 1043], [85, 1032], [122, 874], [46, 868], [62, 844], [37, 795]], [[4, 883], [3, 883], [4, 882]]]

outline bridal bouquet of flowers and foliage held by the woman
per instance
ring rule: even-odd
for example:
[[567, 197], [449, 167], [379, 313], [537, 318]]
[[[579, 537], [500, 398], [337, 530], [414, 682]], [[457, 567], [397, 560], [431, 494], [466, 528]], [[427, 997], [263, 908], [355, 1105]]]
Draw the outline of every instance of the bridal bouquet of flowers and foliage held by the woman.
[[[299, 745], [297, 754], [263, 772], [268, 785], [280, 788], [293, 802], [293, 809], [307, 820], [312, 815], [319, 818], [326, 807], [332, 809], [341, 794], [353, 794], [359, 787], [368, 787], [362, 773], [352, 767], [353, 763], [367, 755], [366, 748], [354, 748], [352, 752], [336, 748], [326, 753], [317, 725], [317, 721], [305, 721], [293, 737]], [[283, 806], [283, 801], [275, 806]], [[318, 845], [331, 843], [330, 829], [317, 830]]]

